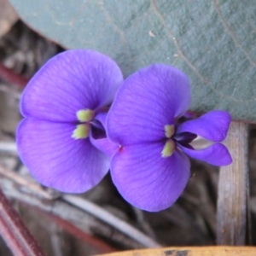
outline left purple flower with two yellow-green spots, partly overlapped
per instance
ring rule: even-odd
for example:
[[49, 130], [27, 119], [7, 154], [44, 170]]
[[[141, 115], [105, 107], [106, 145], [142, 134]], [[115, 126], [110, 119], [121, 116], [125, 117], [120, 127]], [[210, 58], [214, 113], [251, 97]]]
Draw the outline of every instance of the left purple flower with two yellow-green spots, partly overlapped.
[[82, 49], [56, 55], [33, 77], [20, 102], [25, 119], [17, 145], [40, 183], [79, 193], [102, 180], [110, 166], [107, 154], [118, 148], [106, 138], [106, 107], [122, 81], [113, 60]]

